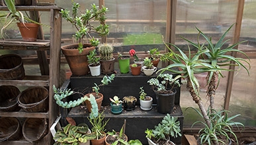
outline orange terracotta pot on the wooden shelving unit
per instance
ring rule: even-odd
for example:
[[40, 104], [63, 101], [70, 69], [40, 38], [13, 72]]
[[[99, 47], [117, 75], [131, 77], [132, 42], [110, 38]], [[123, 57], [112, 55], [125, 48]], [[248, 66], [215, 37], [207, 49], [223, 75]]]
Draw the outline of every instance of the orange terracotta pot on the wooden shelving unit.
[[39, 24], [17, 22], [23, 41], [36, 42]]

